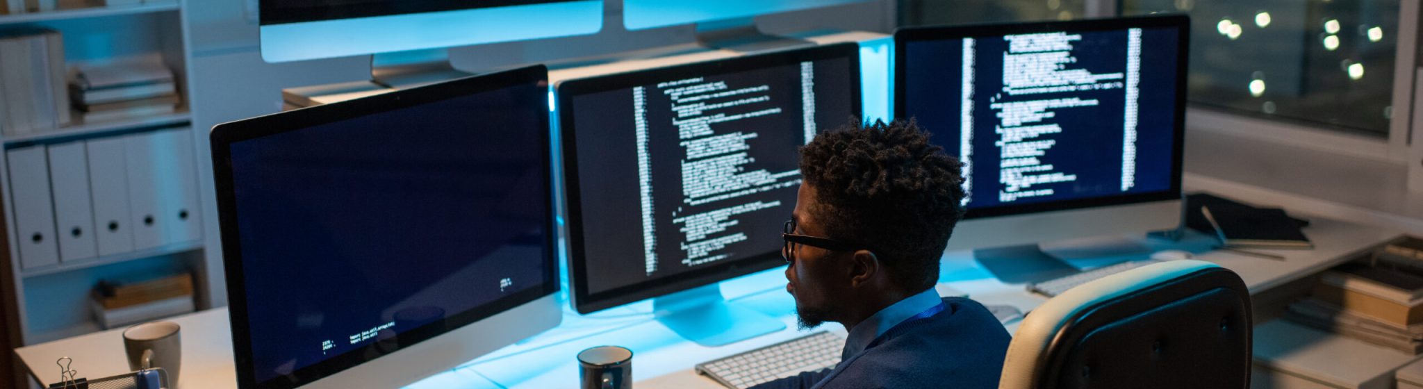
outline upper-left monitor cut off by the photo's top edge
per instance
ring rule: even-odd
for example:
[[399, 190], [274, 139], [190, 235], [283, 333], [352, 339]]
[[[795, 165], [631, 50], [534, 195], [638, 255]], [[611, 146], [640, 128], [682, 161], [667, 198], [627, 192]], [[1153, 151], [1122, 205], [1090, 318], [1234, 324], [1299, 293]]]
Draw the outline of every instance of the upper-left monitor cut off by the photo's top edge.
[[260, 0], [269, 63], [598, 33], [603, 0]]

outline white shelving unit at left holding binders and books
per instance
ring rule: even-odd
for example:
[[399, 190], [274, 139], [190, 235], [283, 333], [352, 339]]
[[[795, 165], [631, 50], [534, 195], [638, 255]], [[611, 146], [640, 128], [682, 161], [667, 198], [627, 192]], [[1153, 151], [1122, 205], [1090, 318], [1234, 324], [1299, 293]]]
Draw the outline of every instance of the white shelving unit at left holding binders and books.
[[[206, 152], [196, 152], [198, 150], [195, 150], [192, 137], [202, 137], [205, 131], [194, 131], [191, 128], [191, 88], [186, 74], [186, 64], [191, 54], [186, 48], [188, 28], [184, 28], [184, 17], [185, 13], [178, 0], [134, 6], [0, 14], [0, 30], [37, 26], [63, 33], [64, 57], [68, 67], [75, 64], [102, 66], [110, 61], [134, 57], [161, 58], [174, 71], [178, 93], [184, 100], [175, 113], [131, 120], [83, 123], [80, 120], [81, 115], [75, 114], [73, 115], [74, 123], [70, 125], [23, 135], [0, 135], [0, 144], [3, 144], [6, 151], [10, 151], [34, 145], [117, 140], [118, 137], [159, 130], [174, 133], [171, 130], [181, 128], [181, 131], [174, 134], [184, 137], [174, 138], [185, 140], [179, 141], [178, 147], [186, 147], [188, 150], [181, 150], [179, 154], [186, 154], [191, 161], [184, 164], [191, 165], [176, 167], [174, 171], [176, 171], [176, 177], [191, 175], [186, 180], [192, 181], [192, 185], [198, 185], [199, 174], [196, 171], [201, 164], [196, 158], [205, 157]], [[186, 134], [182, 134], [182, 131], [186, 131]], [[175, 172], [165, 171], [164, 174], [172, 175]], [[9, 266], [9, 274], [13, 276], [10, 285], [14, 286], [13, 294], [4, 291], [0, 292], [0, 296], [14, 299], [13, 306], [18, 311], [0, 312], [0, 316], [16, 318], [23, 345], [98, 331], [100, 325], [91, 318], [87, 304], [90, 291], [98, 279], [188, 269], [194, 275], [194, 285], [199, 286], [195, 291], [198, 308], [212, 306], [212, 291], [202, 289], [205, 285], [209, 285], [203, 278], [211, 274], [203, 271], [206, 264], [202, 237], [165, 241], [138, 249], [60, 261], [58, 264], [23, 266], [18, 249], [21, 235], [16, 222], [16, 202], [11, 198], [14, 188], [10, 182], [10, 175], [11, 167], [7, 158], [0, 158], [0, 198], [3, 198], [6, 219], [3, 225], [7, 231], [4, 239], [9, 247], [9, 251], [4, 252], [7, 254], [7, 259], [3, 265]], [[166, 178], [158, 178], [155, 182], [162, 182], [161, 180]], [[159, 202], [162, 201], [166, 199], [161, 199]], [[189, 207], [192, 212], [202, 212], [201, 209], [208, 208], [202, 205], [208, 199], [203, 199], [201, 195], [194, 201], [196, 204]], [[215, 218], [215, 215], [199, 217]], [[101, 222], [95, 219], [98, 228], [102, 228], [102, 225], [98, 225]], [[58, 229], [64, 229], [64, 227]], [[92, 232], [98, 234], [98, 231]], [[0, 282], [0, 285], [6, 284]]]

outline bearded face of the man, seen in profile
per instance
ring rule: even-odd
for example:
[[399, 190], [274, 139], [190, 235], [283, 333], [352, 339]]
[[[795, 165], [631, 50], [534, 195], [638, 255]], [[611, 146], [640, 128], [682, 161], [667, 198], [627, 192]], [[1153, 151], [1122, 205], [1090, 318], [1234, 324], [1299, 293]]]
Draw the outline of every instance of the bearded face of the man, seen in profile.
[[[791, 218], [795, 221], [795, 231], [791, 234], [825, 237], [824, 225], [815, 219], [810, 209], [820, 209], [815, 191], [808, 184], [801, 184], [795, 194], [795, 211]], [[785, 252], [790, 266], [785, 268], [785, 292], [795, 298], [795, 315], [803, 329], [815, 328], [827, 321], [837, 321], [837, 294], [841, 289], [837, 281], [842, 272], [837, 271], [837, 264], [845, 262], [845, 252], [834, 252], [822, 248], [791, 244]]]

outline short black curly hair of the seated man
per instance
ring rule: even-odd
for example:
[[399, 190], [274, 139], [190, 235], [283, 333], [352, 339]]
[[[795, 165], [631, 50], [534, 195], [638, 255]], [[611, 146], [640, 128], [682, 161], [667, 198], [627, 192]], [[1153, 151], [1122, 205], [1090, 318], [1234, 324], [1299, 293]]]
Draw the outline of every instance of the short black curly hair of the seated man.
[[800, 152], [801, 174], [820, 199], [810, 211], [828, 238], [874, 252], [905, 292], [933, 286], [963, 217], [963, 164], [912, 120], [854, 120]]

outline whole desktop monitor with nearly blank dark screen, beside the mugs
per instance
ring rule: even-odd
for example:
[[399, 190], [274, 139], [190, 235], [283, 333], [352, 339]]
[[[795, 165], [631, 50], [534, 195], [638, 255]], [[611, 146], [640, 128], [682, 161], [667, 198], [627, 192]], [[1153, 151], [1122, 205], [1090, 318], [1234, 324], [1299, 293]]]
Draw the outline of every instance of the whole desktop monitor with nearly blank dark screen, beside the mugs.
[[546, 80], [213, 127], [239, 388], [396, 388], [556, 326]]

